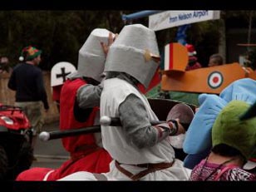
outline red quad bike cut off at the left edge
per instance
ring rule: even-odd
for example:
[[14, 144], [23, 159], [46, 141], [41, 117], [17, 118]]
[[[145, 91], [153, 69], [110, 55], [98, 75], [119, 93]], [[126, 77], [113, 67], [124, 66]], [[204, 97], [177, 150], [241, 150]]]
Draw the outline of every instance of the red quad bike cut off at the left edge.
[[22, 109], [0, 103], [0, 180], [15, 180], [32, 165], [32, 128]]

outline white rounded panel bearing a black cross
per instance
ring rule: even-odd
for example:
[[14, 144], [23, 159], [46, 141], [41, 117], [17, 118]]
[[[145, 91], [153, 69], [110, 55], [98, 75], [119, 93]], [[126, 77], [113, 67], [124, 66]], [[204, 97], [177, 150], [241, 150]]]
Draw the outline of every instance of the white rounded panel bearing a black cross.
[[51, 70], [51, 86], [60, 86], [66, 81], [66, 76], [76, 71], [70, 62], [57, 62]]

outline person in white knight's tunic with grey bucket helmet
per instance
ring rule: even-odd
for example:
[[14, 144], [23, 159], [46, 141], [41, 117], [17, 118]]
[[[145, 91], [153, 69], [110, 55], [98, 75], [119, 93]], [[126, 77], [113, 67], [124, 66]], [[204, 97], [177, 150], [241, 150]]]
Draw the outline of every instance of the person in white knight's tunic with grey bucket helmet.
[[121, 121], [101, 126], [103, 147], [113, 158], [110, 171], [101, 177], [78, 172], [62, 180], [188, 180], [169, 136], [184, 133], [183, 126], [178, 119], [152, 126], [158, 118], [138, 88], [149, 86], [159, 61], [154, 31], [140, 24], [121, 30], [106, 57], [101, 92], [101, 116]]

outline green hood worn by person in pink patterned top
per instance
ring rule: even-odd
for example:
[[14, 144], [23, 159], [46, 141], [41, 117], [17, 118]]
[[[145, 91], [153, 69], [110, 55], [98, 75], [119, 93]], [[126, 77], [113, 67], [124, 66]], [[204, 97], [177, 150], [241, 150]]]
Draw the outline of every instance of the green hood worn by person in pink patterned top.
[[249, 109], [244, 101], [230, 101], [220, 111], [212, 130], [213, 146], [229, 145], [248, 160], [256, 145], [256, 118], [240, 121], [239, 116]]

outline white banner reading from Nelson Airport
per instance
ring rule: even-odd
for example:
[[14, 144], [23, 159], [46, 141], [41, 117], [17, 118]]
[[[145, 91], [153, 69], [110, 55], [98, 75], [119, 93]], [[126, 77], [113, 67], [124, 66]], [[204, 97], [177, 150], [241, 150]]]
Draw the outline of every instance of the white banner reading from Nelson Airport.
[[219, 19], [220, 11], [166, 11], [149, 17], [149, 28], [159, 31], [165, 28], [182, 26], [193, 22]]

